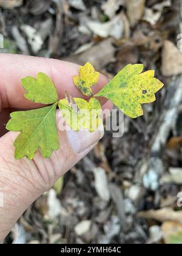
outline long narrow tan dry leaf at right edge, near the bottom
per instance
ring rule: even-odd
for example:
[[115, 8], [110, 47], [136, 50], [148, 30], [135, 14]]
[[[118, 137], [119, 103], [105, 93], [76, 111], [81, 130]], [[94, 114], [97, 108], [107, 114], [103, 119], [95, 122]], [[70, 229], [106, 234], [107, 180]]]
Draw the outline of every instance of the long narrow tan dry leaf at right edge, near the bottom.
[[166, 207], [160, 210], [149, 210], [138, 213], [138, 217], [145, 219], [155, 219], [156, 221], [178, 221], [182, 224], [182, 210], [175, 212], [172, 208]]

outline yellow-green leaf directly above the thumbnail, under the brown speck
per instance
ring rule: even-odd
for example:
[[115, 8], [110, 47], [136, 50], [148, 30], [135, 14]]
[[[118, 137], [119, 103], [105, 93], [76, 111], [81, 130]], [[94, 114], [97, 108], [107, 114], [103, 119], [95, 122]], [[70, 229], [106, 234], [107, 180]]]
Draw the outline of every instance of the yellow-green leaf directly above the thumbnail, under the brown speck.
[[69, 106], [67, 99], [59, 101], [59, 108], [62, 110], [66, 123], [75, 131], [87, 129], [90, 132], [94, 132], [97, 127], [103, 123], [101, 119], [101, 104], [99, 104], [99, 101], [95, 98], [91, 98], [89, 102], [79, 98], [73, 99], [76, 105], [78, 105], [79, 112], [75, 112], [75, 110]]

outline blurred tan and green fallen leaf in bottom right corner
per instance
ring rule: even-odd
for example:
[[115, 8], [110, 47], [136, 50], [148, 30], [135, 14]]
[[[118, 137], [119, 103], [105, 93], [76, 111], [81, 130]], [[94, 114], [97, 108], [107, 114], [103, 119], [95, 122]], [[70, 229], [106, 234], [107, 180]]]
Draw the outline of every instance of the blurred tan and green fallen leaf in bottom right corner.
[[177, 221], [165, 221], [161, 228], [166, 244], [182, 244], [182, 224]]

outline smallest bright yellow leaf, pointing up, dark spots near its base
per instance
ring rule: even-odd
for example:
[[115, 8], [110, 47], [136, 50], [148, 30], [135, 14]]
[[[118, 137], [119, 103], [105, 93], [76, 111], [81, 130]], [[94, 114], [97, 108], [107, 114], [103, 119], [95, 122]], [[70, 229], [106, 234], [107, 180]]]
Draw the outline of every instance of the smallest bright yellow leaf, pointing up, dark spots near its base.
[[98, 82], [99, 73], [89, 62], [79, 68], [79, 76], [73, 76], [76, 87], [87, 96], [92, 96], [92, 87]]

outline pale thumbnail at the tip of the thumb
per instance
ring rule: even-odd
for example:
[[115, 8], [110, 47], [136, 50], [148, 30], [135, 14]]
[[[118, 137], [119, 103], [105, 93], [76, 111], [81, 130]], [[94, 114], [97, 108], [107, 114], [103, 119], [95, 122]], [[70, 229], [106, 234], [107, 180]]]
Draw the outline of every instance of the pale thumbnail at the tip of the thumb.
[[66, 129], [66, 133], [73, 151], [76, 154], [80, 154], [103, 138], [104, 126], [98, 126], [98, 129], [96, 129], [95, 132], [89, 132], [88, 130], [75, 132], [73, 130]]

